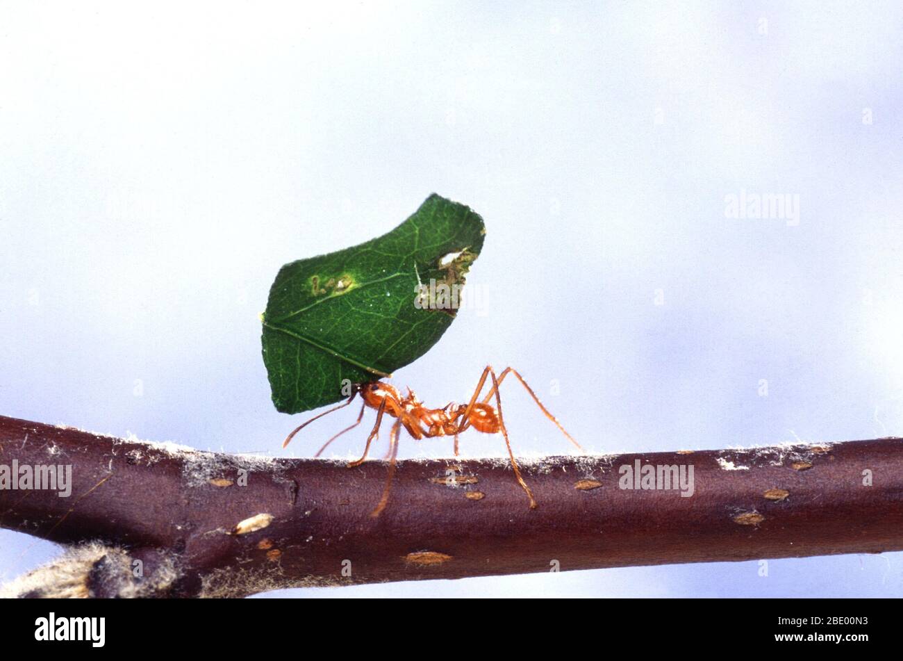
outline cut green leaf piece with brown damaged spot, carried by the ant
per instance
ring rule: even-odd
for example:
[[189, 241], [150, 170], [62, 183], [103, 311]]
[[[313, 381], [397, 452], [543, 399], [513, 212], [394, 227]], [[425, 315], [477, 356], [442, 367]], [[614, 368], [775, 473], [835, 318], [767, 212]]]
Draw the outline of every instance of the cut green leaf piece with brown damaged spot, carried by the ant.
[[433, 194], [382, 237], [284, 265], [262, 315], [276, 409], [337, 402], [349, 395], [343, 385], [389, 377], [423, 356], [454, 321], [447, 294], [460, 296], [485, 234], [477, 213]]

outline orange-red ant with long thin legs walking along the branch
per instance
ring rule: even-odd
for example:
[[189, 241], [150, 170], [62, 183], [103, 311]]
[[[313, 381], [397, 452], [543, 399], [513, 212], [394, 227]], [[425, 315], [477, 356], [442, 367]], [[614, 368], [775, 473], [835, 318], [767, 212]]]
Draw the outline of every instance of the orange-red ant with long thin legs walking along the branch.
[[[370, 408], [377, 409], [377, 422], [373, 425], [373, 430], [367, 437], [367, 444], [364, 447], [363, 456], [357, 461], [349, 461], [348, 467], [355, 468], [367, 460], [370, 443], [379, 436], [379, 427], [383, 422], [383, 415], [389, 414], [391, 417], [396, 418], [396, 422], [392, 424], [392, 432], [389, 434], [389, 469], [386, 477], [386, 487], [383, 489], [382, 498], [380, 498], [376, 509], [370, 513], [371, 517], [378, 517], [388, 503], [389, 489], [392, 486], [392, 479], [395, 476], [396, 470], [398, 436], [403, 426], [407, 432], [418, 441], [424, 437], [434, 438], [437, 436], [453, 435], [454, 453], [456, 457], [458, 456], [458, 436], [461, 432], [464, 432], [470, 427], [473, 427], [478, 432], [482, 433], [498, 433], [500, 431], [505, 436], [508, 457], [511, 459], [511, 467], [514, 469], [517, 483], [524, 489], [527, 498], [530, 498], [530, 509], [535, 509], [536, 500], [533, 497], [533, 492], [526, 486], [526, 482], [520, 474], [520, 467], [517, 466], [514, 452], [511, 451], [511, 442], [508, 440], [507, 428], [505, 427], [505, 422], [502, 418], [502, 400], [501, 396], [498, 394], [498, 386], [501, 385], [508, 374], [513, 374], [517, 377], [517, 380], [521, 382], [526, 388], [526, 391], [533, 397], [536, 405], [542, 409], [545, 417], [551, 420], [558, 429], [567, 436], [568, 440], [573, 442], [577, 449], [582, 452], [583, 448], [580, 443], [574, 441], [571, 434], [567, 433], [561, 423], [555, 419], [554, 415], [549, 413], [548, 409], [546, 409], [543, 403], [539, 401], [539, 397], [533, 392], [533, 388], [527, 385], [524, 377], [521, 377], [516, 369], [505, 368], [505, 370], [497, 377], [496, 372], [491, 365], [486, 366], [483, 370], [482, 376], [479, 377], [479, 383], [473, 391], [473, 396], [470, 397], [470, 402], [467, 405], [455, 405], [454, 403], [450, 403], [443, 408], [428, 408], [423, 405], [416, 395], [414, 395], [414, 391], [411, 390], [411, 388], [407, 389], [406, 396], [401, 396], [395, 386], [390, 386], [382, 381], [370, 381], [368, 383], [356, 384], [351, 396], [346, 402], [338, 406], [333, 406], [328, 411], [315, 415], [306, 423], [301, 424], [286, 437], [283, 442], [283, 447], [288, 445], [294, 438], [294, 435], [300, 432], [308, 424], [311, 424], [314, 420], [320, 419], [324, 415], [328, 415], [333, 411], [338, 411], [340, 408], [348, 406], [356, 396], [360, 395], [363, 404], [360, 406], [357, 422], [346, 427], [330, 438], [329, 441], [325, 442], [314, 457], [319, 457], [321, 453], [329, 447], [329, 444], [339, 438], [343, 433], [349, 432], [357, 427], [364, 417], [364, 411], [369, 406]], [[487, 377], [492, 377], [492, 387], [489, 390], [489, 394], [485, 396], [482, 401], [477, 401], [483, 387], [486, 385]], [[489, 405], [489, 399], [493, 395], [496, 397], [496, 405], [494, 408], [492, 405]]]

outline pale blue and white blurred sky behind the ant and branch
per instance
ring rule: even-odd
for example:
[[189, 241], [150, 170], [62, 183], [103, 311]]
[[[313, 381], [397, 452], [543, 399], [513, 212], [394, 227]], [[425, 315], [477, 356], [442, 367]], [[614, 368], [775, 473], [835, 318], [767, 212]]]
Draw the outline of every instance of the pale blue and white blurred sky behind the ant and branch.
[[[276, 271], [436, 191], [488, 235], [477, 304], [396, 372], [428, 403], [491, 362], [597, 452], [903, 435], [897, 2], [140, 6], [0, 3], [3, 414], [284, 456], [298, 421], [270, 404], [257, 320]], [[798, 222], [727, 218], [741, 191], [799, 200]], [[569, 452], [509, 393], [518, 452]], [[0, 578], [56, 552], [0, 531]], [[293, 593], [900, 596], [901, 570]]]

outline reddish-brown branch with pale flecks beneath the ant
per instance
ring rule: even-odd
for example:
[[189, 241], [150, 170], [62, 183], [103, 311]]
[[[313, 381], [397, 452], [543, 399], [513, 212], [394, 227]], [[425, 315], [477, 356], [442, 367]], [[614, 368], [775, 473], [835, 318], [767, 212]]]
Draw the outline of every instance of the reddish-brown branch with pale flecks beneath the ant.
[[[71, 464], [71, 495], [0, 490], [0, 526], [102, 543], [20, 582], [18, 594], [243, 596], [903, 549], [900, 439], [522, 460], [535, 510], [507, 461], [402, 461], [377, 518], [381, 461], [348, 469], [197, 452], [0, 417], [0, 466], [14, 460]], [[619, 488], [620, 467], [636, 461], [692, 466], [693, 496]], [[63, 590], [54, 582], [72, 573], [65, 563], [83, 577]]]

